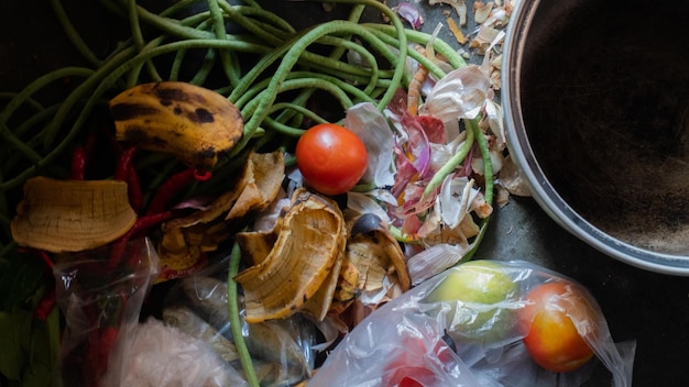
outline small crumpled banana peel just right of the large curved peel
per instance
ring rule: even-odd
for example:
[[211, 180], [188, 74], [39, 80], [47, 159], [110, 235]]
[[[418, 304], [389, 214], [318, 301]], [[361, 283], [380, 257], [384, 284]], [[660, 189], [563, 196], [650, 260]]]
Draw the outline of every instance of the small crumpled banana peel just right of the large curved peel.
[[361, 292], [385, 290], [384, 300], [390, 300], [408, 290], [411, 284], [400, 243], [379, 217], [364, 213], [349, 232], [338, 291], [329, 313], [342, 312]]

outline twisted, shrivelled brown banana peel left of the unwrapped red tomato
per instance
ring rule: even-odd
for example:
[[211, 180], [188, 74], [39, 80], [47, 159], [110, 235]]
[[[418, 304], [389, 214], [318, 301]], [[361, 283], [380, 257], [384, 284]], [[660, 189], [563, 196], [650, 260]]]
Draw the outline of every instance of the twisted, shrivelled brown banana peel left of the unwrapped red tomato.
[[228, 218], [243, 217], [270, 206], [280, 192], [285, 176], [281, 151], [251, 153], [234, 187], [187, 217], [163, 224], [158, 255], [168, 277], [194, 266], [201, 253], [215, 251], [230, 237]]

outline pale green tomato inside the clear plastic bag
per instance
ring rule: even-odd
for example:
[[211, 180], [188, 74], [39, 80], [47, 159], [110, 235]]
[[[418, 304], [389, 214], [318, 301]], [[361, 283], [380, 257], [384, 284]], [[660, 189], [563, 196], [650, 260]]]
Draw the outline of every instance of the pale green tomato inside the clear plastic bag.
[[508, 301], [517, 286], [504, 268], [490, 261], [470, 261], [448, 270], [428, 296], [450, 305], [448, 331], [471, 341], [494, 342], [515, 325]]

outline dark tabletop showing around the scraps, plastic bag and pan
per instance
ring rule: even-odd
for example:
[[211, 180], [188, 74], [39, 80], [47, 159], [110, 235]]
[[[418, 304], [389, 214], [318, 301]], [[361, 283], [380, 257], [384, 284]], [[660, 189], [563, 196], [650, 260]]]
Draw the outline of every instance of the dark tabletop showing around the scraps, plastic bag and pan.
[[[50, 69], [75, 64], [76, 54], [47, 3], [0, 3], [0, 89], [18, 89]], [[112, 44], [112, 31], [121, 25], [101, 19], [92, 2], [70, 2], [75, 3], [84, 13], [78, 23], [94, 31], [90, 43]], [[285, 4], [269, 7], [298, 14], [298, 22], [305, 24], [333, 15], [314, 4]], [[442, 9], [450, 10], [426, 9], [424, 29], [433, 30], [445, 18]], [[496, 209], [478, 257], [534, 262], [589, 288], [613, 339], [636, 341], [635, 386], [678, 386], [689, 379], [689, 278], [650, 273], [603, 255], [558, 226], [531, 198], [513, 197], [506, 207]], [[601, 364], [586, 386], [610, 386], [610, 382]]]

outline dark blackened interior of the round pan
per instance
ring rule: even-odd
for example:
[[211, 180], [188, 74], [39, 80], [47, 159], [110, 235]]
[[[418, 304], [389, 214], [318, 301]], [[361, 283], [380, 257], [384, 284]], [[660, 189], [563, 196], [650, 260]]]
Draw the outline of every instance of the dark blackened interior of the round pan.
[[522, 114], [534, 156], [584, 219], [689, 255], [689, 1], [542, 1]]

